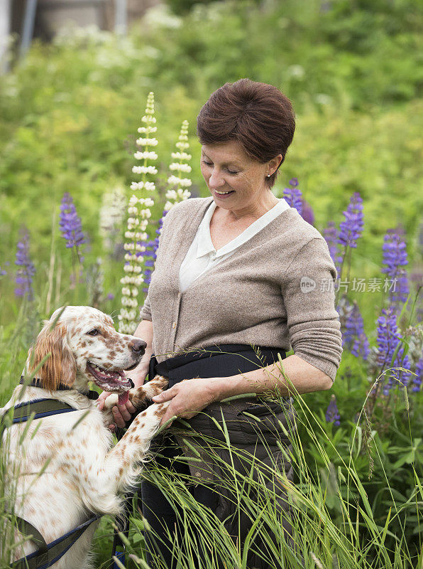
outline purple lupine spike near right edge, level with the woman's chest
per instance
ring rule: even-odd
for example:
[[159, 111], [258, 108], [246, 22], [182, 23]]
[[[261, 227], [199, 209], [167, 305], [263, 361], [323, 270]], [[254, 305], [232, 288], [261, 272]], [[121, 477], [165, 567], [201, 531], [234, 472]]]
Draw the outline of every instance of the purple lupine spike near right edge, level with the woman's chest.
[[408, 264], [407, 248], [403, 238], [404, 231], [401, 228], [388, 229], [383, 238], [383, 267], [382, 272], [390, 277], [392, 290], [390, 291], [391, 302], [405, 302], [409, 291], [407, 272], [405, 265]]

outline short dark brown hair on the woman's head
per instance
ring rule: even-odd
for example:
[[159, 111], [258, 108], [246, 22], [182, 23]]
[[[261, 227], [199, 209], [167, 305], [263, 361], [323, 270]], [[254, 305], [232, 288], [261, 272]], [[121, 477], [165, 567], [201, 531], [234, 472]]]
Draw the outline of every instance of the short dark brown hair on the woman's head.
[[[197, 117], [201, 144], [237, 140], [248, 156], [262, 163], [278, 154], [283, 162], [294, 132], [295, 113], [288, 97], [273, 85], [251, 79], [219, 87]], [[278, 169], [265, 179], [270, 188], [277, 174]]]

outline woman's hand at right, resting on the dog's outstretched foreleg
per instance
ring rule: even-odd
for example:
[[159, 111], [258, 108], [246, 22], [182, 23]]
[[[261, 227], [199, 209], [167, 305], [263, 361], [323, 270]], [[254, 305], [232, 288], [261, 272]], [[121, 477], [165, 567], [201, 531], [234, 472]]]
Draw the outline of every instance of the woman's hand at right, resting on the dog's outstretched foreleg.
[[153, 401], [154, 403], [170, 401], [170, 405], [160, 422], [160, 425], [163, 425], [175, 415], [183, 419], [194, 417], [207, 405], [216, 401], [216, 396], [214, 382], [211, 379], [187, 379], [173, 385], [163, 393], [155, 395]]

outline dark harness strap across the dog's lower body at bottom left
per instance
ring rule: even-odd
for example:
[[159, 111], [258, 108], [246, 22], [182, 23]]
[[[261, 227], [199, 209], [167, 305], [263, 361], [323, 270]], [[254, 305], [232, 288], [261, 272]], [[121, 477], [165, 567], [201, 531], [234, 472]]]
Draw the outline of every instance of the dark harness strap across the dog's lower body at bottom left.
[[[84, 521], [84, 523], [81, 523], [76, 528], [65, 533], [64, 536], [61, 536], [60, 538], [55, 539], [55, 541], [48, 543], [48, 545], [45, 543], [45, 540], [43, 536], [41, 536], [40, 532], [34, 528], [31, 523], [22, 518], [19, 518], [18, 527], [21, 523], [23, 524], [23, 528], [25, 528], [25, 531], [23, 531], [23, 533], [31, 535], [31, 540], [36, 543], [39, 549], [38, 551], [30, 553], [30, 555], [26, 555], [26, 557], [18, 559], [17, 561], [13, 561], [11, 568], [48, 569], [63, 555], [65, 555], [65, 553], [73, 546], [73, 544], [82, 536], [82, 533], [84, 533], [84, 531], [87, 530], [87, 528], [89, 528], [89, 526], [91, 526], [91, 524], [94, 523], [94, 521], [97, 521], [99, 518], [101, 518], [101, 514], [93, 516], [89, 520]], [[21, 530], [21, 527], [19, 527], [19, 529]], [[38, 536], [35, 537], [34, 535], [35, 533], [38, 533], [38, 536], [40, 536], [40, 539], [43, 541], [41, 547], [38, 544]]]

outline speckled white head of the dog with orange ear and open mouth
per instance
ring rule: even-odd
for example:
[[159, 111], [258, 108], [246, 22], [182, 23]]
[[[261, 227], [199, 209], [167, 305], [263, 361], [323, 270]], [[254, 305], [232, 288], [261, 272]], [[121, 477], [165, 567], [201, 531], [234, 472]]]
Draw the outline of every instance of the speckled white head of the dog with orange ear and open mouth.
[[131, 388], [123, 370], [138, 365], [145, 346], [135, 336], [116, 332], [113, 319], [95, 308], [65, 307], [44, 322], [27, 369], [39, 366], [35, 375], [45, 389], [55, 390], [61, 383], [85, 390], [94, 381], [101, 389], [123, 394]]

